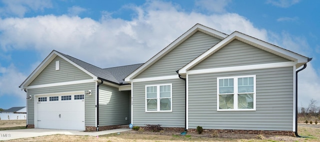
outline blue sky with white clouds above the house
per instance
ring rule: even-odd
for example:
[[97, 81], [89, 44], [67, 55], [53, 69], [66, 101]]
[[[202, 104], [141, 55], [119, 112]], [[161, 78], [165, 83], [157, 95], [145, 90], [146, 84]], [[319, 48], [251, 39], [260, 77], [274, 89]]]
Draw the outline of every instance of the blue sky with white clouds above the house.
[[[320, 0], [0, 0], [0, 108], [52, 51], [101, 68], [144, 63], [196, 23], [313, 58], [299, 107], [320, 100]], [[317, 104], [320, 105], [320, 104]]]

